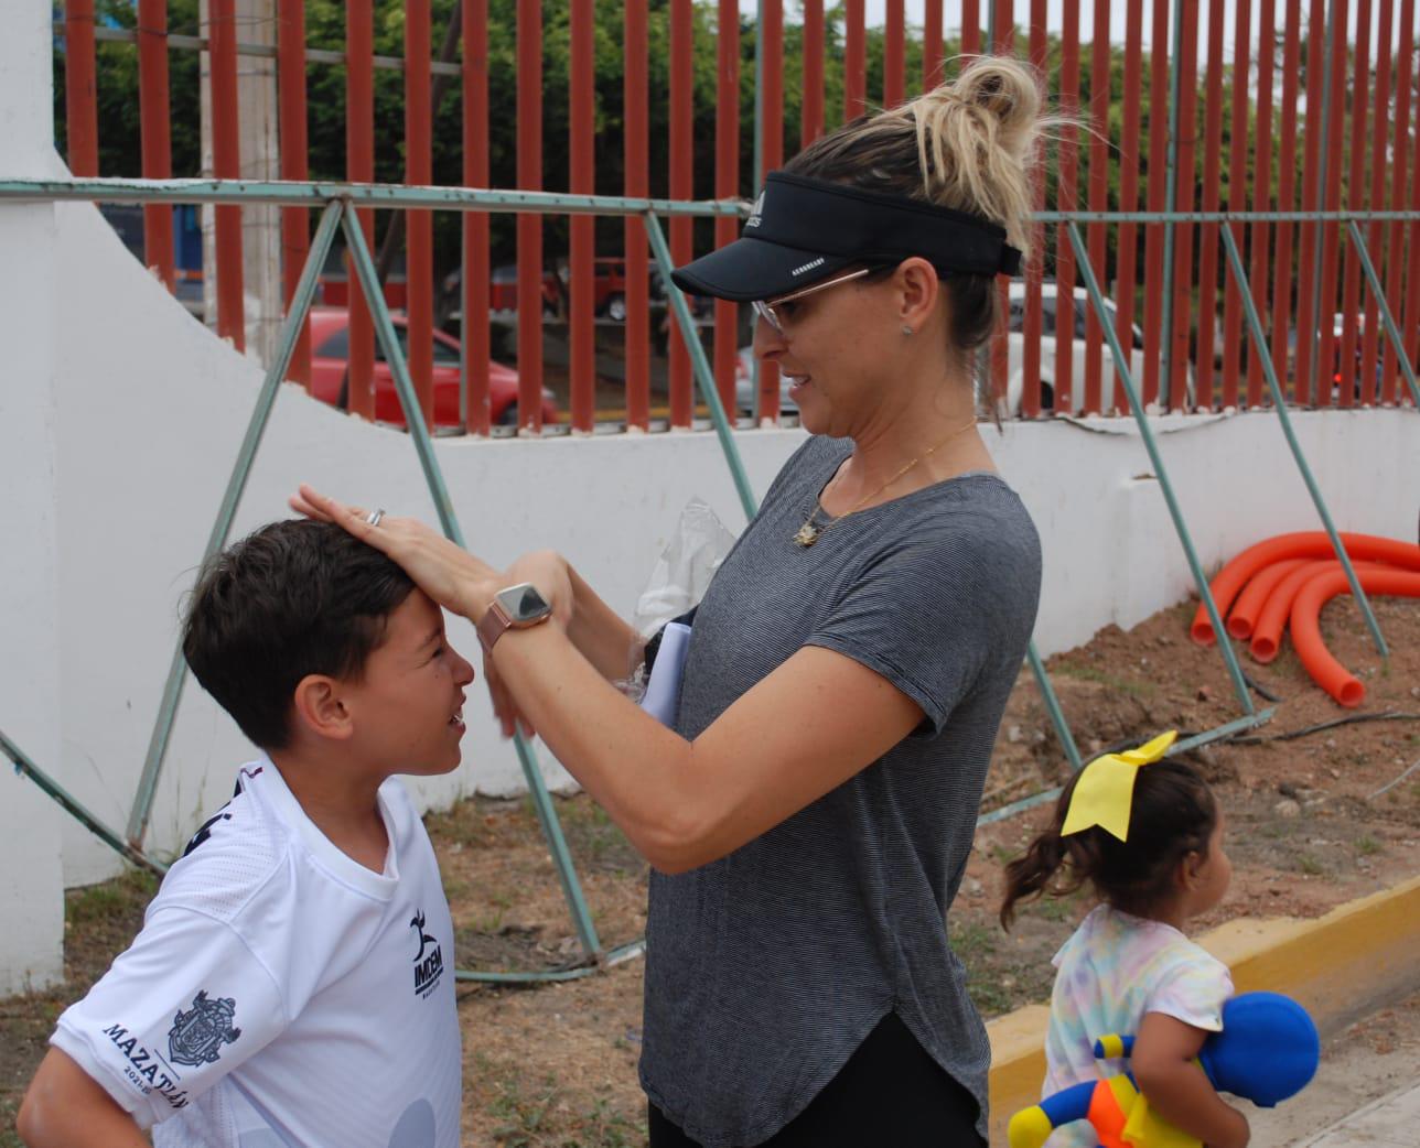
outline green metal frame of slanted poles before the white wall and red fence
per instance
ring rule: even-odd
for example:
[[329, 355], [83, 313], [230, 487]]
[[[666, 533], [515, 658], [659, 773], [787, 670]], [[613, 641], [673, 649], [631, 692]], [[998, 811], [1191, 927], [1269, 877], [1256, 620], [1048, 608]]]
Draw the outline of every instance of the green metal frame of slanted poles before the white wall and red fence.
[[[241, 492], [246, 487], [247, 477], [250, 475], [253, 461], [256, 458], [263, 433], [266, 430], [267, 421], [271, 414], [271, 409], [275, 403], [275, 396], [280, 383], [290, 365], [290, 359], [295, 348], [297, 338], [301, 332], [305, 315], [314, 298], [318, 271], [324, 264], [324, 260], [331, 248], [331, 244], [334, 243], [337, 228], [342, 228], [345, 233], [348, 248], [354, 260], [355, 272], [359, 277], [362, 289], [365, 291], [365, 298], [371, 301], [371, 309], [375, 319], [375, 332], [379, 345], [385, 353], [385, 359], [389, 363], [390, 372], [393, 375], [395, 386], [399, 393], [399, 400], [408, 421], [410, 440], [413, 443], [416, 456], [423, 470], [429, 492], [435, 501], [435, 507], [437, 509], [440, 519], [440, 526], [446, 536], [457, 542], [460, 546], [464, 545], [463, 534], [459, 528], [457, 515], [453, 509], [453, 501], [449, 495], [437, 456], [435, 454], [433, 450], [433, 441], [425, 426], [425, 420], [420, 416], [420, 409], [415, 394], [413, 382], [409, 375], [409, 368], [405, 359], [405, 353], [400, 349], [399, 341], [396, 338], [395, 325], [392, 322], [389, 308], [385, 304], [383, 292], [379, 289], [379, 278], [376, 274], [375, 263], [371, 258], [369, 248], [365, 243], [364, 231], [355, 214], [356, 209], [378, 206], [386, 209], [429, 207], [429, 209], [456, 210], [456, 211], [520, 211], [520, 213], [542, 213], [542, 214], [555, 213], [555, 214], [638, 216], [645, 223], [652, 251], [655, 254], [656, 263], [659, 264], [663, 281], [667, 284], [670, 282], [672, 258], [670, 258], [670, 250], [666, 244], [665, 234], [662, 231], [662, 224], [660, 224], [662, 217], [741, 216], [747, 214], [748, 211], [748, 204], [741, 203], [738, 200], [677, 202], [677, 200], [628, 199], [628, 197], [608, 197], [608, 196], [568, 196], [568, 194], [544, 193], [544, 192], [491, 192], [491, 190], [476, 190], [476, 189], [462, 189], [462, 187], [409, 187], [409, 186], [382, 186], [382, 184], [278, 183], [278, 182], [239, 182], [239, 180], [108, 180], [108, 179], [0, 180], [0, 202], [17, 202], [17, 200], [236, 203], [236, 204], [270, 203], [270, 204], [322, 207], [322, 214], [315, 230], [315, 237], [311, 244], [305, 267], [301, 272], [301, 278], [298, 281], [294, 298], [288, 308], [287, 318], [281, 328], [277, 353], [266, 370], [266, 377], [261, 390], [258, 392], [251, 420], [247, 426], [246, 436], [243, 437], [241, 446], [237, 451], [237, 458], [233, 464], [231, 475], [229, 478], [222, 500], [222, 505], [217, 512], [217, 518], [207, 538], [207, 545], [203, 553], [204, 559], [219, 552], [227, 542], [231, 524], [236, 515], [236, 509], [241, 498]], [[1088, 258], [1085, 243], [1079, 231], [1079, 224], [1081, 223], [1167, 223], [1170, 226], [1177, 226], [1183, 223], [1247, 224], [1247, 223], [1284, 221], [1284, 220], [1345, 223], [1348, 227], [1348, 236], [1350, 238], [1350, 243], [1355, 245], [1363, 263], [1367, 281], [1370, 282], [1370, 288], [1380, 302], [1386, 333], [1392, 345], [1394, 346], [1397, 359], [1402, 363], [1402, 369], [1404, 372], [1410, 396], [1414, 400], [1416, 406], [1420, 407], [1420, 387], [1417, 387], [1414, 366], [1406, 353], [1404, 339], [1402, 338], [1402, 332], [1396, 325], [1392, 308], [1389, 307], [1389, 302], [1384, 297], [1384, 291], [1375, 272], [1375, 267], [1370, 261], [1369, 253], [1366, 251], [1366, 244], [1362, 237], [1360, 228], [1358, 227], [1359, 223], [1370, 220], [1416, 221], [1420, 220], [1420, 211], [1331, 211], [1331, 213], [1051, 211], [1051, 213], [1039, 213], [1038, 216], [1035, 216], [1035, 220], [1039, 223], [1055, 223], [1068, 227], [1069, 240], [1079, 260], [1081, 275], [1085, 280], [1085, 287], [1089, 292], [1091, 305], [1095, 308], [1095, 314], [1100, 319], [1100, 326], [1103, 329], [1103, 333], [1109, 341], [1109, 348], [1113, 356], [1115, 369], [1119, 375], [1119, 383], [1123, 387], [1125, 394], [1127, 396], [1129, 407], [1135, 419], [1135, 423], [1139, 427], [1139, 433], [1143, 440], [1150, 465], [1153, 468], [1153, 474], [1157, 477], [1160, 488], [1163, 490], [1174, 532], [1186, 553], [1197, 593], [1203, 600], [1208, 612], [1208, 616], [1213, 622], [1213, 629], [1218, 640], [1218, 648], [1227, 664], [1228, 677], [1233, 683], [1233, 690], [1237, 695], [1238, 708], [1242, 711], [1241, 717], [1224, 722], [1216, 729], [1203, 731], [1183, 742], [1179, 742], [1172, 752], [1184, 752], [1190, 748], [1196, 748], [1210, 741], [1218, 741], [1234, 736], [1235, 734], [1244, 729], [1250, 729], [1252, 727], [1257, 727], [1268, 721], [1274, 711], [1272, 710], [1258, 711], [1252, 704], [1245, 674], [1241, 670], [1241, 666], [1237, 660], [1237, 654], [1233, 650], [1233, 646], [1228, 640], [1227, 629], [1224, 627], [1217, 605], [1213, 600], [1207, 576], [1204, 573], [1197, 549], [1190, 536], [1183, 511], [1176, 498], [1173, 482], [1169, 478], [1164, 457], [1159, 448], [1159, 441], [1150, 426], [1149, 417], [1146, 416], [1143, 403], [1139, 396], [1139, 389], [1136, 386], [1136, 380], [1132, 377], [1129, 356], [1119, 345], [1113, 322], [1108, 319], [1105, 298], [1100, 291], [1098, 278], [1093, 272], [1093, 268], [1091, 265], [1091, 261]], [[1230, 272], [1234, 275], [1237, 281], [1237, 285], [1240, 288], [1247, 309], [1251, 338], [1260, 351], [1265, 349], [1267, 346], [1265, 331], [1262, 328], [1261, 316], [1252, 301], [1252, 295], [1248, 289], [1247, 275], [1242, 268], [1242, 260], [1238, 253], [1237, 243], [1233, 238], [1231, 228], [1223, 227], [1220, 230], [1227, 248]], [[697, 338], [696, 333], [696, 325], [690, 314], [690, 308], [686, 304], [684, 297], [679, 291], [673, 289], [669, 291], [669, 302], [673, 309], [673, 314], [676, 315], [676, 321], [684, 338], [684, 343], [690, 351], [696, 383], [700, 389], [700, 396], [703, 402], [707, 404], [710, 410], [710, 419], [714, 426], [716, 434], [719, 436], [720, 447], [726, 458], [726, 465], [730, 470], [731, 478], [736, 485], [736, 491], [740, 497], [740, 502], [744, 508], [746, 517], [753, 518], [753, 515], [757, 511], [757, 501], [751, 491], [748, 477], [746, 475], [744, 465], [740, 460], [737, 437], [736, 437], [737, 433], [731, 427], [730, 419], [720, 402], [714, 385], [714, 377], [710, 369], [710, 363], [704, 355], [704, 351], [700, 345], [700, 339]], [[1375, 613], [1372, 612], [1366, 595], [1355, 576], [1350, 559], [1348, 558], [1345, 548], [1340, 543], [1340, 538], [1336, 534], [1336, 528], [1333, 525], [1331, 512], [1322, 497], [1321, 488], [1318, 487], [1315, 477], [1311, 473], [1311, 467], [1306, 461], [1305, 453], [1291, 429], [1287, 403], [1281, 392], [1279, 380], [1277, 379], [1277, 375], [1272, 370], [1271, 358], [1264, 353], [1262, 362], [1265, 363], [1267, 369], [1267, 382], [1272, 394], [1274, 409], [1277, 412], [1282, 433], [1287, 437], [1288, 446], [1292, 451], [1296, 467], [1306, 482], [1312, 501], [1316, 505], [1318, 515], [1321, 517], [1325, 529], [1331, 536], [1332, 546], [1336, 551], [1336, 556], [1342, 562], [1348, 573], [1353, 593], [1356, 596], [1356, 602], [1358, 605], [1360, 605], [1365, 613], [1366, 624], [1372, 633], [1376, 647], [1380, 650], [1382, 657], [1386, 657], [1387, 650], [1384, 639], [1380, 634], [1380, 627], [1376, 622]], [[1059, 739], [1061, 748], [1066, 755], [1066, 758], [1069, 759], [1072, 769], [1079, 769], [1082, 763], [1079, 751], [1071, 734], [1069, 724], [1065, 719], [1065, 714], [1061, 710], [1059, 701], [1051, 685], [1049, 675], [1045, 670], [1045, 666], [1034, 643], [1031, 643], [1028, 651], [1028, 664], [1044, 697], [1045, 707], [1051, 724], [1055, 729], [1055, 734]], [[159, 704], [159, 712], [155, 719], [152, 738], [149, 741], [142, 778], [138, 786], [138, 792], [135, 795], [132, 812], [129, 815], [126, 834], [121, 836], [114, 830], [108, 829], [106, 826], [104, 826], [99, 819], [97, 819], [92, 813], [85, 810], [77, 800], [72, 799], [72, 796], [68, 795], [68, 792], [58, 782], [55, 782], [51, 776], [44, 773], [44, 771], [40, 769], [38, 765], [36, 765], [30, 758], [27, 758], [18, 746], [16, 746], [10, 739], [4, 738], [3, 735], [0, 735], [0, 752], [4, 752], [14, 762], [16, 768], [21, 773], [31, 778], [45, 793], [48, 793], [68, 813], [71, 813], [71, 816], [77, 817], [85, 827], [98, 834], [105, 843], [114, 847], [125, 859], [128, 859], [135, 864], [141, 864], [148, 868], [162, 871], [165, 868], [163, 861], [160, 859], [152, 857], [151, 854], [145, 853], [142, 841], [146, 834], [148, 819], [152, 812], [153, 796], [162, 775], [163, 759], [172, 735], [173, 721], [176, 718], [185, 680], [186, 680], [186, 664], [182, 658], [182, 651], [178, 650], [175, 651], [172, 664], [169, 667], [168, 681], [163, 688], [162, 701]], [[577, 877], [577, 870], [572, 863], [572, 857], [568, 851], [567, 841], [562, 837], [561, 824], [558, 822], [557, 812], [552, 806], [551, 796], [548, 795], [541, 772], [537, 768], [537, 761], [532, 754], [532, 748], [521, 736], [521, 734], [517, 735], [515, 738], [515, 749], [520, 765], [523, 768], [524, 778], [528, 785], [528, 790], [532, 796], [534, 807], [537, 809], [538, 813], [544, 836], [547, 837], [548, 849], [551, 851], [554, 866], [557, 868], [558, 878], [562, 885], [562, 893], [567, 900], [568, 910], [577, 927], [578, 938], [582, 945], [584, 958], [579, 962], [579, 965], [574, 968], [559, 968], [541, 972], [503, 972], [503, 971], [463, 969], [459, 971], [457, 973], [459, 978], [470, 981], [488, 981], [488, 982], [535, 982], [535, 981], [550, 981], [550, 979], [571, 979], [577, 976], [589, 975], [591, 972], [595, 972], [598, 968], [615, 964], [619, 959], [626, 959], [629, 956], [633, 956], [640, 949], [639, 941], [609, 949], [598, 937], [596, 928], [592, 924], [591, 911], [586, 905], [585, 895], [582, 894], [581, 883], [578, 881]], [[1021, 802], [1015, 802], [1011, 806], [994, 810], [993, 813], [984, 816], [981, 822], [985, 823], [985, 822], [1000, 820], [1001, 817], [1005, 816], [1011, 816], [1022, 809], [1028, 809], [1031, 806], [1052, 799], [1056, 792], [1058, 790], [1037, 793]]]

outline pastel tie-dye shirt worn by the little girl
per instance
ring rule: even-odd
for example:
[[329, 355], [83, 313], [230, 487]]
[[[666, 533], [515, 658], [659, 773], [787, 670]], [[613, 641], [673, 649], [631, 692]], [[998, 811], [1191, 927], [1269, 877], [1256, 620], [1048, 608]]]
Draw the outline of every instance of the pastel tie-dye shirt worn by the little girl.
[[[1042, 1097], [1127, 1071], [1125, 1060], [1095, 1060], [1098, 1037], [1135, 1034], [1149, 1012], [1221, 1032], [1223, 1002], [1233, 996], [1233, 978], [1216, 956], [1173, 925], [1109, 905], [1091, 911], [1052, 964], [1056, 973]], [[1054, 1132], [1048, 1148], [1096, 1142], [1089, 1124], [1081, 1121]]]

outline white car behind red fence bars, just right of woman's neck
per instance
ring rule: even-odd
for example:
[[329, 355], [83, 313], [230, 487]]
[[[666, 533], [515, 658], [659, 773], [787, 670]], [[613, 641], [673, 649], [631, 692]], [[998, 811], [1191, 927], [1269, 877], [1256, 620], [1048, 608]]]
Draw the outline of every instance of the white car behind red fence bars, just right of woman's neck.
[[[1007, 376], [1005, 376], [1005, 409], [1010, 414], [1021, 413], [1021, 396], [1025, 392], [1025, 284], [1020, 280], [1011, 281], [1010, 312], [1007, 315], [1005, 342], [1008, 348]], [[1041, 284], [1041, 410], [1055, 410], [1055, 302], [1056, 284]], [[1079, 414], [1085, 409], [1085, 316], [1093, 311], [1089, 292], [1083, 287], [1075, 288], [1074, 326], [1075, 338], [1071, 341], [1071, 413]], [[1105, 314], [1108, 322], [1115, 324], [1115, 304], [1105, 299]], [[1135, 389], [1143, 393], [1145, 372], [1145, 333], [1135, 324], [1132, 329], [1132, 346], [1129, 348], [1129, 370]], [[1193, 406], [1194, 376], [1193, 363], [1187, 368], [1187, 404]], [[1115, 370], [1115, 356], [1109, 351], [1109, 341], [1100, 339], [1100, 379], [1099, 406], [1103, 413], [1119, 410], [1129, 413], [1129, 399], [1119, 375]]]

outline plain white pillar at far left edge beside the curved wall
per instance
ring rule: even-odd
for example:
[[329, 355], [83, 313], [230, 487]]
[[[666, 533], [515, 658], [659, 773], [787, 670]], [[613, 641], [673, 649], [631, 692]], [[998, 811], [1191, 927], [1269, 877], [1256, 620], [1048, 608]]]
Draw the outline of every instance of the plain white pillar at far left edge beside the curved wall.
[[[0, 37], [0, 177], [54, 176], [51, 6]], [[54, 204], [0, 203], [0, 729], [60, 759]], [[0, 762], [0, 995], [62, 975], [60, 810]]]

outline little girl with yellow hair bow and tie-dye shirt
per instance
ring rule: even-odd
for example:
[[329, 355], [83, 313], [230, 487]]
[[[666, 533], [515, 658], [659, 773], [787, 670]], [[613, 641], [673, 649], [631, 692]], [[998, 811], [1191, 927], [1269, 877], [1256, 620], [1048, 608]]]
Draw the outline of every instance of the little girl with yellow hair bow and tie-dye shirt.
[[[1247, 1118], [1193, 1061], [1223, 1027], [1228, 969], [1183, 935], [1184, 922], [1227, 893], [1223, 816], [1190, 766], [1162, 761], [1173, 734], [1089, 762], [1061, 793], [1051, 827], [1005, 870], [1001, 924], [1015, 905], [1086, 883], [1100, 900], [1055, 955], [1042, 1095], [1132, 1071], [1150, 1108], [1210, 1148], [1244, 1148]], [[1133, 1056], [1096, 1060], [1093, 1042], [1133, 1033]], [[1065, 1125], [1051, 1148], [1098, 1139]]]

